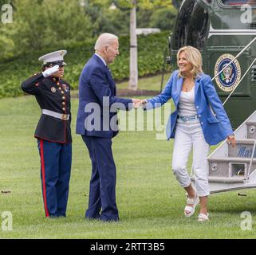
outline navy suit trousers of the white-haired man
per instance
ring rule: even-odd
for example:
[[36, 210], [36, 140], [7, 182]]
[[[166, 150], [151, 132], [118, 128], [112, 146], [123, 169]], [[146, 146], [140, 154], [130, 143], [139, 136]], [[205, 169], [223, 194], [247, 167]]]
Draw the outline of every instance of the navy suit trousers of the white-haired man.
[[112, 140], [96, 136], [81, 136], [92, 161], [89, 208], [85, 212], [85, 218], [118, 221], [116, 165], [112, 155]]

